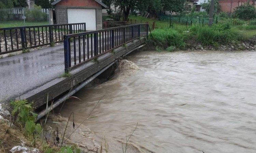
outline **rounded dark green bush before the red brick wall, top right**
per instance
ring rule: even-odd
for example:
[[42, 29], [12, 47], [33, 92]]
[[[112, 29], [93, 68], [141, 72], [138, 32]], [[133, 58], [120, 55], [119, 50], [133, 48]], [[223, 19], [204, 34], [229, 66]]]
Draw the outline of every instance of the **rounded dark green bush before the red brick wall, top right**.
[[254, 5], [244, 3], [234, 10], [232, 14], [233, 18], [238, 19], [255, 19], [256, 18], [256, 8]]

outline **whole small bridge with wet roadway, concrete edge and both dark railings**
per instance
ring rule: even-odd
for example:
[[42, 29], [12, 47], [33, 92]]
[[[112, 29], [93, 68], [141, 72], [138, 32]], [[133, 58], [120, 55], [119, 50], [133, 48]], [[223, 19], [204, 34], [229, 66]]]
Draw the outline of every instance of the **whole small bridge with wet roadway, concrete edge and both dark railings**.
[[[23, 27], [17, 30], [18, 28], [0, 29], [4, 31], [5, 36], [3, 41], [5, 51], [0, 50], [0, 55], [24, 51], [28, 47], [35, 48], [64, 42], [53, 47], [0, 59], [1, 102], [27, 99], [29, 102], [34, 102], [35, 109], [54, 99], [52, 108], [65, 101], [102, 72], [111, 68], [118, 58], [145, 46], [149, 31], [147, 23], [89, 32], [83, 32], [86, 29], [85, 23], [43, 27], [45, 30], [42, 27]], [[35, 31], [37, 28], [38, 31]], [[47, 42], [40, 40], [41, 28], [40, 32], [46, 32], [44, 39]], [[19, 44], [17, 31], [20, 31], [22, 44], [20, 47], [13, 43], [12, 30], [14, 36], [16, 35], [16, 44]], [[11, 36], [9, 48], [6, 45], [6, 31], [10, 31]], [[38, 43], [36, 36], [39, 37]], [[31, 39], [33, 37], [34, 39]], [[0, 48], [1, 44], [2, 42]], [[39, 118], [42, 116], [43, 113], [39, 114]]]

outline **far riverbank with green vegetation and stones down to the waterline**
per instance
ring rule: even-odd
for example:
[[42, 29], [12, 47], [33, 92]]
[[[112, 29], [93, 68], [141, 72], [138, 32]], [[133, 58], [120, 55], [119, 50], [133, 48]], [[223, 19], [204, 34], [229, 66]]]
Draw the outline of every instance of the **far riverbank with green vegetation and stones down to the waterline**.
[[212, 27], [174, 24], [170, 28], [155, 29], [151, 34], [147, 43], [157, 51], [256, 49], [256, 30], [239, 29], [228, 22]]

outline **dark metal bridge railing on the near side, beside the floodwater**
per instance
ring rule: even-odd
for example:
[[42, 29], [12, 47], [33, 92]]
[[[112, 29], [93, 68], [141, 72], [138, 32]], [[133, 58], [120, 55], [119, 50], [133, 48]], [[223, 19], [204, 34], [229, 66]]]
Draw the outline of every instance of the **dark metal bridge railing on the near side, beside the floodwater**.
[[65, 72], [147, 35], [148, 23], [65, 35]]

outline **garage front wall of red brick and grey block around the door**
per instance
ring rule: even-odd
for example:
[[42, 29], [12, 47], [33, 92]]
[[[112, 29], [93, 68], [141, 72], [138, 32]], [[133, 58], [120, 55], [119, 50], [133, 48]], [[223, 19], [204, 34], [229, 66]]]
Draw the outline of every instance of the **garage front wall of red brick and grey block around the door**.
[[57, 24], [68, 23], [67, 8], [95, 8], [96, 9], [96, 29], [102, 29], [102, 6], [95, 0], [61, 0], [55, 5]]

